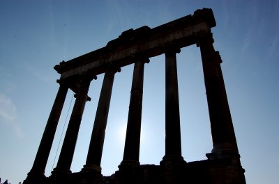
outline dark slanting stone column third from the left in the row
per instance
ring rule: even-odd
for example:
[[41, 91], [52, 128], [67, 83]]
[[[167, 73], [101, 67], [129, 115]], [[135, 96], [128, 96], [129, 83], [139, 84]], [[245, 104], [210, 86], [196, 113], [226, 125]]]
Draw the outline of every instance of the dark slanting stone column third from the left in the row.
[[107, 127], [107, 116], [110, 110], [110, 98], [112, 96], [112, 86], [115, 72], [121, 69], [108, 69], [105, 72], [102, 90], [96, 111], [89, 151], [87, 154], [86, 165], [82, 172], [101, 172], [100, 162], [102, 159], [103, 145], [105, 140], [105, 128]]

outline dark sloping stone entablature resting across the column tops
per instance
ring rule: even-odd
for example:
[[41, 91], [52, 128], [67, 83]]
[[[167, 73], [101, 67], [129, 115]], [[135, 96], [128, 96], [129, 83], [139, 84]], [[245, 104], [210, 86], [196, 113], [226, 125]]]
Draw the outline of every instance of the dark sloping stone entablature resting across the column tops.
[[134, 62], [133, 57], [130, 57], [132, 55], [144, 53], [146, 58], [151, 58], [164, 53], [164, 47], [168, 44], [176, 44], [180, 48], [196, 44], [197, 33], [211, 32], [214, 26], [216, 21], [212, 10], [203, 8], [196, 10], [193, 15], [181, 17], [155, 28], [142, 26], [135, 30], [131, 28], [123, 31], [105, 47], [61, 62], [54, 69], [61, 74], [61, 79], [89, 72], [102, 74], [105, 72], [103, 65], [107, 62], [115, 67], [123, 67]]

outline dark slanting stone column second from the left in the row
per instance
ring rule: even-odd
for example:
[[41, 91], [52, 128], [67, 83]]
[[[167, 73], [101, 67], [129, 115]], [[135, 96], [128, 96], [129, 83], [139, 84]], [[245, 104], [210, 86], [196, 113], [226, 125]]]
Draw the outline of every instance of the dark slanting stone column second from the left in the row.
[[70, 165], [72, 164], [73, 155], [75, 152], [75, 144], [77, 142], [77, 135], [82, 121], [82, 114], [87, 100], [87, 93], [89, 90], [90, 81], [87, 78], [82, 78], [79, 89], [75, 99], [72, 115], [66, 131], [66, 135], [61, 148], [59, 160], [56, 168], [52, 172], [54, 176], [59, 174], [70, 174]]

